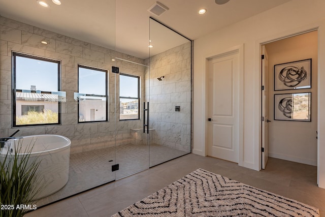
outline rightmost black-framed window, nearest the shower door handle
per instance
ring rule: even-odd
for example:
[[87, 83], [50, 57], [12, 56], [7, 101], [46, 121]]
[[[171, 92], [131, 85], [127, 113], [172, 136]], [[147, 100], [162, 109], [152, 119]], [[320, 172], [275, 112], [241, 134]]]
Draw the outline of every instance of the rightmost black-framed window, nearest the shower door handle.
[[140, 119], [140, 77], [120, 73], [120, 120]]

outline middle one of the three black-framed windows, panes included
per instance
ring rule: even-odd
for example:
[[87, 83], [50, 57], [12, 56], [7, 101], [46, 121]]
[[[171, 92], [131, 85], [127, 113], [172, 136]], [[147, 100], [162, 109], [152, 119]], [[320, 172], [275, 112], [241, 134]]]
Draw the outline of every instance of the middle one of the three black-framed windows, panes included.
[[107, 74], [104, 69], [78, 65], [78, 122], [108, 120]]

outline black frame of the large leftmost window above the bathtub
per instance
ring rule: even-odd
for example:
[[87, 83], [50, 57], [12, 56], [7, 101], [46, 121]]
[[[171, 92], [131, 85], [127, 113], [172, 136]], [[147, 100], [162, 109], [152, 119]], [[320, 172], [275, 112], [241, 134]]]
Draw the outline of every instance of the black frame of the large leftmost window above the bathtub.
[[[20, 127], [35, 127], [35, 126], [48, 126], [48, 125], [61, 125], [61, 102], [57, 101], [57, 123], [33, 123], [28, 125], [17, 125], [16, 124], [16, 92], [17, 92], [17, 86], [16, 86], [16, 74], [17, 74], [17, 56], [24, 57], [24, 58], [30, 58], [30, 59], [36, 59], [41, 61], [48, 61], [50, 63], [57, 64], [57, 91], [61, 91], [61, 61], [57, 59], [47, 58], [43, 56], [37, 56], [27, 53], [21, 53], [12, 51], [12, 126], [13, 128], [20, 128]], [[18, 89], [22, 91], [21, 89]], [[49, 94], [48, 91], [41, 91], [41, 94]]]

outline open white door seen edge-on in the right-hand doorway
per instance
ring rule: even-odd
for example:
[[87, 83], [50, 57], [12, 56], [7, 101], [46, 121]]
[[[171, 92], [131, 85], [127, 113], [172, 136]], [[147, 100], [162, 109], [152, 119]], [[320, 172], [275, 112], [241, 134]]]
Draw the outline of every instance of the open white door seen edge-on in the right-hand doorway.
[[268, 95], [269, 95], [269, 75], [268, 75], [268, 53], [265, 46], [262, 46], [262, 169], [265, 169], [269, 157], [269, 111], [268, 111]]

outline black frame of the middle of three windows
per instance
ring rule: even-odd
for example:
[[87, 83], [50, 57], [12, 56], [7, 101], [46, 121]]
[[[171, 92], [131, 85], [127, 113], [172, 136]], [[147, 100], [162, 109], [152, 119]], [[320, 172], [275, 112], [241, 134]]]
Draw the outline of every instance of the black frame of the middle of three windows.
[[[105, 120], [90, 120], [90, 121], [80, 121], [79, 120], [79, 112], [80, 112], [80, 104], [79, 104], [79, 97], [78, 97], [78, 124], [79, 123], [94, 123], [94, 122], [108, 122], [108, 73], [109, 71], [107, 69], [101, 69], [98, 67], [91, 67], [91, 66], [86, 66], [86, 65], [82, 65], [82, 64], [78, 64], [78, 93], [79, 93], [79, 68], [83, 68], [83, 69], [90, 69], [90, 70], [95, 70], [95, 71], [100, 71], [100, 72], [105, 72], [105, 96], [104, 95], [95, 95], [95, 94], [86, 94], [85, 96], [91, 96], [91, 97], [102, 97], [102, 98], [106, 98], [106, 118]], [[84, 94], [84, 93], [81, 93]]]

